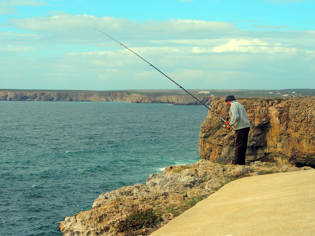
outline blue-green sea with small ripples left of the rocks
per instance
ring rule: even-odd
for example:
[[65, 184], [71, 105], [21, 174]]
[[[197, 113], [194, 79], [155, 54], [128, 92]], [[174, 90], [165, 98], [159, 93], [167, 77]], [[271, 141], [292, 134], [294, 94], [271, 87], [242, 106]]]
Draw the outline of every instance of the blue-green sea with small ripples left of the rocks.
[[0, 101], [0, 235], [62, 235], [102, 193], [199, 159], [204, 106]]

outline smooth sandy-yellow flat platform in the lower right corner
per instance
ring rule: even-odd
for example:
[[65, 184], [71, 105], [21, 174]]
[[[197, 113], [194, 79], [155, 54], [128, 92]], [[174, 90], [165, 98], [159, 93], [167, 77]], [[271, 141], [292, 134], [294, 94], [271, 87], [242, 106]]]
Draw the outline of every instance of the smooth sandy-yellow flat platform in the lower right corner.
[[150, 236], [314, 236], [315, 170], [232, 181]]

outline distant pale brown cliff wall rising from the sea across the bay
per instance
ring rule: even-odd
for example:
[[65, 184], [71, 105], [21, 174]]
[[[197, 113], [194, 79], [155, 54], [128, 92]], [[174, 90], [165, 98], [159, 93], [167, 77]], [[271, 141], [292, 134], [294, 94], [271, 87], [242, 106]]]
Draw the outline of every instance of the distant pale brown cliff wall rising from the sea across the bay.
[[[220, 97], [196, 96], [201, 102], [209, 105]], [[132, 102], [132, 103], [170, 103], [174, 105], [200, 105], [190, 95], [164, 95], [148, 96], [136, 93], [107, 93], [107, 92], [21, 92], [0, 91], [0, 100], [4, 101], [106, 101], [106, 102]]]

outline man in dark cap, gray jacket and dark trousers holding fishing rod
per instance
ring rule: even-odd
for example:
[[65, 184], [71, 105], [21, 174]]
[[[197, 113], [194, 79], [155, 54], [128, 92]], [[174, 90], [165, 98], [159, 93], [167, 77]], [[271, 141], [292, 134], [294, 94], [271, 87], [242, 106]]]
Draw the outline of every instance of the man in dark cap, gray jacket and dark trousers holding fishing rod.
[[231, 118], [231, 121], [225, 121], [225, 124], [235, 128], [235, 150], [232, 164], [245, 165], [247, 139], [250, 127], [246, 110], [242, 104], [236, 101], [233, 95], [227, 96], [225, 102], [230, 107], [229, 115]]

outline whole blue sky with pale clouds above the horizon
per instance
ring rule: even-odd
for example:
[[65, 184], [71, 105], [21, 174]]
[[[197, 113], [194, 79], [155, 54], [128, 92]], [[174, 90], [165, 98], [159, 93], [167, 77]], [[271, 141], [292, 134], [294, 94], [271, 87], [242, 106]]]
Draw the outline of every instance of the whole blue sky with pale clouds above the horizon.
[[314, 89], [314, 12], [315, 0], [1, 0], [0, 88], [177, 89], [160, 70], [185, 89]]

